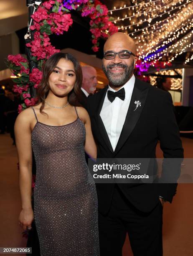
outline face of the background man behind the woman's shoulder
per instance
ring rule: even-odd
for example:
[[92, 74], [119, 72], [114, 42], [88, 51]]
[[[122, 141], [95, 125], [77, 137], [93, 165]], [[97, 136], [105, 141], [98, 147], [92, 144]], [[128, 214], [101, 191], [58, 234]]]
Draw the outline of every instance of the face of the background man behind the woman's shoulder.
[[97, 71], [95, 69], [88, 69], [88, 71], [83, 74], [83, 84], [86, 92], [94, 93], [97, 86]]

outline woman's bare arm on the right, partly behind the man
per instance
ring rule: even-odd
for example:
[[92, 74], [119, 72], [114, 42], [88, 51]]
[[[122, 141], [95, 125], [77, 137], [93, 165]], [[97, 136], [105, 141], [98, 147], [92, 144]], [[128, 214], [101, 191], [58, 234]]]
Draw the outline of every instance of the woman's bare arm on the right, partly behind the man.
[[83, 121], [84, 126], [86, 128], [86, 141], [84, 149], [86, 151], [86, 154], [88, 154], [91, 158], [96, 159], [97, 158], [97, 146], [94, 141], [94, 137], [92, 135], [91, 131], [91, 121], [89, 118], [89, 114], [86, 111], [86, 109], [79, 107], [78, 113], [80, 119]]

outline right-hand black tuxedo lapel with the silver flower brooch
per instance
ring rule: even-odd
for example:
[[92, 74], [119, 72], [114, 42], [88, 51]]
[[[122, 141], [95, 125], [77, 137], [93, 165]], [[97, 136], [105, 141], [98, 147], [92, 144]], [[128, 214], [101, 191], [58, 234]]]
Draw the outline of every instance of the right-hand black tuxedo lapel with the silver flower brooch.
[[[123, 144], [127, 140], [127, 138], [132, 133], [133, 129], [135, 128], [135, 125], [140, 118], [140, 114], [142, 112], [142, 109], [145, 105], [145, 100], [147, 98], [147, 92], [149, 88], [147, 85], [143, 82], [141, 82], [139, 79], [135, 78], [135, 85], [132, 92], [132, 97], [130, 101], [130, 106], [127, 111], [127, 115], [125, 118], [125, 122], [122, 128], [122, 132], [119, 136], [119, 141], [117, 143], [117, 146], [114, 151], [114, 156], [118, 153], [118, 151], [122, 148]], [[135, 104], [135, 102], [140, 103], [140, 105]], [[136, 108], [137, 107], [137, 108]]]

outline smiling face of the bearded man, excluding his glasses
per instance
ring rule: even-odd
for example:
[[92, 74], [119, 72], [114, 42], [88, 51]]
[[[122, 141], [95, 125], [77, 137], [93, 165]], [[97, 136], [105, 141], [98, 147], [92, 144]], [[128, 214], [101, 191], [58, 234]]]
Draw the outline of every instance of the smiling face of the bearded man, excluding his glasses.
[[[105, 45], [104, 52], [106, 51], [132, 51], [128, 42], [124, 40], [120, 41], [111, 41], [111, 43]], [[135, 53], [134, 53], [135, 54]], [[120, 87], [124, 85], [133, 74], [135, 63], [137, 57], [130, 55], [129, 59], [120, 59], [118, 54], [116, 54], [114, 59], [104, 59], [103, 58], [103, 71], [109, 79], [109, 83], [114, 87]]]

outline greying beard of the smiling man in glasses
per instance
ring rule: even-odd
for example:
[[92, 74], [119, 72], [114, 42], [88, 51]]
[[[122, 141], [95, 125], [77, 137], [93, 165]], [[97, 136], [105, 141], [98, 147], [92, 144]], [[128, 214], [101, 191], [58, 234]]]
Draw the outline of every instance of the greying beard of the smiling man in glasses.
[[[112, 73], [110, 69], [112, 68], [123, 68], [124, 71], [122, 73]], [[124, 84], [126, 84], [127, 81], [132, 77], [133, 71], [134, 71], [134, 60], [130, 66], [127, 66], [126, 64], [109, 64], [107, 65], [107, 68], [104, 67], [104, 64], [102, 64], [102, 69], [104, 71], [104, 74], [109, 79], [109, 83], [112, 84], [115, 87], [120, 87]]]

